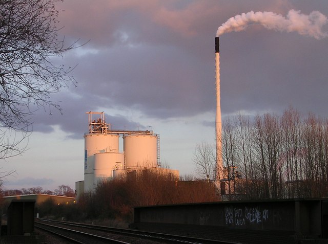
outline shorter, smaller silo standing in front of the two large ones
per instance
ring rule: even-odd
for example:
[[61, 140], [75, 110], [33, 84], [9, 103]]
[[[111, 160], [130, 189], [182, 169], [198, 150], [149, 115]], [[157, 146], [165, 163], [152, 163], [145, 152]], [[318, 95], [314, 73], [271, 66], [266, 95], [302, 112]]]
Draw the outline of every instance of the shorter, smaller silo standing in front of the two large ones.
[[94, 154], [94, 181], [96, 187], [101, 180], [113, 177], [113, 170], [124, 165], [124, 154], [102, 152]]

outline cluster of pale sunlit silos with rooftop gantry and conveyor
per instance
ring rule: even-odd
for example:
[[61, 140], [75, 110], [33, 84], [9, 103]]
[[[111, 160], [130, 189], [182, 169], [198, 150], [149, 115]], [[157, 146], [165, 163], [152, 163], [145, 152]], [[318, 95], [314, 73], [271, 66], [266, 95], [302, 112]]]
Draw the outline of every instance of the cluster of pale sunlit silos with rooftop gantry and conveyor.
[[[104, 112], [87, 112], [88, 132], [84, 135], [84, 181], [75, 183], [77, 197], [94, 192], [97, 184], [127, 172], [161, 169], [159, 135], [152, 130], [112, 130]], [[123, 151], [119, 150], [123, 140]], [[170, 175], [179, 178], [178, 170]]]

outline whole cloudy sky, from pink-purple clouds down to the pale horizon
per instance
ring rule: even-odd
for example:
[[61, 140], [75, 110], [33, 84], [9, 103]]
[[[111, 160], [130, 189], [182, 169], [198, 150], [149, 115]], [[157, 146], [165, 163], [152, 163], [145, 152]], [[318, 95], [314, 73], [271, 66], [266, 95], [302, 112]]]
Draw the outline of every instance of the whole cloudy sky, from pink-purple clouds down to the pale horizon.
[[[90, 110], [104, 111], [114, 129], [153, 129], [161, 161], [180, 175], [192, 174], [196, 145], [215, 143], [217, 28], [251, 10], [328, 16], [326, 0], [66, 0], [58, 8], [67, 45], [88, 42], [53, 60], [77, 64], [72, 75], [78, 84], [52, 97], [63, 115], [40, 109], [32, 118], [30, 149], [2, 163], [2, 171], [16, 170], [7, 189], [75, 188], [84, 180]], [[290, 105], [328, 117], [327, 47], [328, 38], [260, 25], [220, 36], [223, 119], [240, 112], [281, 114]]]

